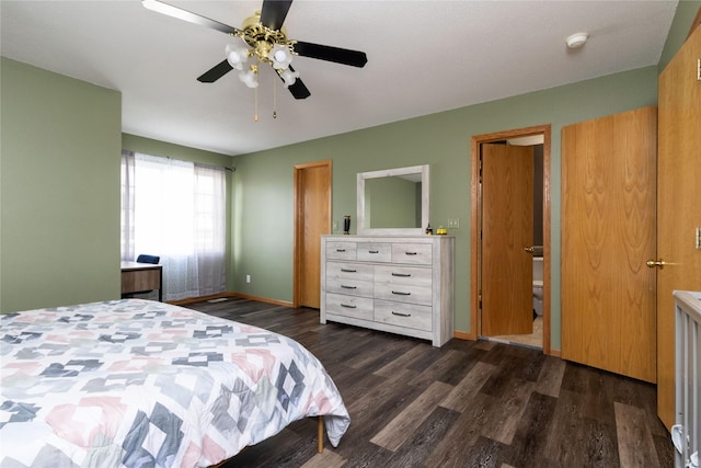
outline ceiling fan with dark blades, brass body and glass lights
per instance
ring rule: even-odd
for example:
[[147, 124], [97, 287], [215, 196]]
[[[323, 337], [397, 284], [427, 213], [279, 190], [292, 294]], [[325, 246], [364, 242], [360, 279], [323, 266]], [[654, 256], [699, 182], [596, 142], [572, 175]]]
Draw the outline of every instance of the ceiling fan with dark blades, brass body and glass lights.
[[[246, 19], [241, 30], [160, 0], [141, 0], [141, 3], [149, 10], [210, 27], [240, 39], [238, 44], [227, 45], [226, 59], [197, 78], [203, 83], [212, 83], [229, 71], [238, 69], [241, 81], [250, 88], [256, 88], [258, 65], [266, 64], [273, 67], [295, 99], [306, 99], [311, 93], [290, 65], [295, 55], [360, 68], [368, 61], [363, 52], [288, 39], [283, 23], [292, 0], [263, 0], [261, 11]], [[243, 66], [249, 58], [253, 58], [254, 62], [248, 65], [244, 70]]]

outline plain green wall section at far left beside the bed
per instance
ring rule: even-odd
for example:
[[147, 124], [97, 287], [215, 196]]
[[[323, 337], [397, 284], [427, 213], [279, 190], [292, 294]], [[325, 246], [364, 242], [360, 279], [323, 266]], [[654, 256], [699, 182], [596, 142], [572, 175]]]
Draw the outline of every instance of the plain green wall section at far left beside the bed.
[[120, 93], [0, 66], [0, 311], [118, 298]]

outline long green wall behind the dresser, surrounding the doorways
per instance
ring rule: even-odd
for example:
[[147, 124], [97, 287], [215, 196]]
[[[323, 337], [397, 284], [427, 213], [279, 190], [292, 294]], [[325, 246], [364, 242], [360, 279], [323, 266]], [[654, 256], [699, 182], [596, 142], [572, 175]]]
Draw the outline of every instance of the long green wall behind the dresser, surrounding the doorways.
[[[657, 102], [657, 68], [647, 67], [344, 135], [237, 157], [234, 290], [292, 300], [292, 167], [333, 160], [333, 216], [356, 213], [356, 173], [430, 164], [430, 224], [458, 218], [456, 330], [470, 323], [470, 139], [552, 126], [552, 336], [560, 347], [560, 132], [564, 125]], [[354, 231], [354, 227], [352, 228]], [[340, 232], [336, 232], [340, 233]], [[245, 284], [244, 274], [252, 274]], [[262, 278], [263, 281], [256, 281]]]

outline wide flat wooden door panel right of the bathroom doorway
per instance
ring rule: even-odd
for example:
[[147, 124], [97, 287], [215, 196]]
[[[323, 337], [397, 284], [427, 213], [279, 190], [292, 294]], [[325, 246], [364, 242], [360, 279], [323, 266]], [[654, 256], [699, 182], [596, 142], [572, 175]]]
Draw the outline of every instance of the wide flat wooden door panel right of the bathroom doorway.
[[562, 357], [653, 383], [656, 116], [562, 129]]

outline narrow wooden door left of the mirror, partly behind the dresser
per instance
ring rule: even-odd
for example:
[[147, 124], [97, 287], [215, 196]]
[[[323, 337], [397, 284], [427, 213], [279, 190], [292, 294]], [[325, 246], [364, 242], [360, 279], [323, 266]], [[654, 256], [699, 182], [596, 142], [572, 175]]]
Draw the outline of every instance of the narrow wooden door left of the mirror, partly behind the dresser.
[[320, 307], [321, 236], [331, 233], [331, 160], [295, 165], [295, 307]]

